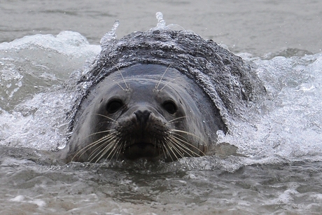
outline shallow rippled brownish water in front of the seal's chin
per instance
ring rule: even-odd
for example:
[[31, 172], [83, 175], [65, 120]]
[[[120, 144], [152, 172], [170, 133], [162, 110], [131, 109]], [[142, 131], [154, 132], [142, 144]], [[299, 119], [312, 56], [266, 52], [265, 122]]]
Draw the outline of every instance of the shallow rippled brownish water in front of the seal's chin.
[[[208, 162], [210, 160], [207, 160]], [[1, 164], [2, 214], [319, 214], [321, 162], [221, 169]], [[140, 165], [144, 165], [141, 163]], [[177, 163], [176, 165], [179, 165]], [[2, 193], [1, 192], [1, 193]]]

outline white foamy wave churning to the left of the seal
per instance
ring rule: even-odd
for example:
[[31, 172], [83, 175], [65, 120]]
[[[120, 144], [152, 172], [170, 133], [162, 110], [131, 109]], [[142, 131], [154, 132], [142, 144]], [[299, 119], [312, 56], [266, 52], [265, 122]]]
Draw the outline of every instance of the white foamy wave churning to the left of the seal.
[[76, 81], [66, 80], [100, 50], [77, 32], [0, 43], [0, 145], [50, 149], [63, 144]]

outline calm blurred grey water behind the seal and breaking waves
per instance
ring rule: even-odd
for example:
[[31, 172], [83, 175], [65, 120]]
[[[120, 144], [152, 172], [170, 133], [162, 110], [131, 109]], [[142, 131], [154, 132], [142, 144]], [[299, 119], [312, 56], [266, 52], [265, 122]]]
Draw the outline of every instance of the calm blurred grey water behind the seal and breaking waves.
[[167, 25], [181, 25], [235, 53], [262, 55], [286, 48], [319, 53], [322, 48], [322, 1], [316, 0], [4, 0], [0, 42], [71, 30], [98, 44], [114, 20], [120, 20], [121, 37], [155, 27], [158, 11]]

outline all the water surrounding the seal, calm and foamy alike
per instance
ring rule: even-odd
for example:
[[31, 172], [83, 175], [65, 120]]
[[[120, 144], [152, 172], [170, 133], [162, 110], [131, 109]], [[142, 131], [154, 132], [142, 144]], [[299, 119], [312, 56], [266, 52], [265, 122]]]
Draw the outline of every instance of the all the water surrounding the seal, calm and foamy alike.
[[[1, 2], [1, 214], [320, 214], [321, 9], [319, 1]], [[99, 53], [114, 21], [120, 38], [155, 27], [157, 11], [167, 25], [224, 43], [265, 84], [251, 123], [237, 121], [219, 140], [237, 153], [221, 144], [217, 156], [88, 166], [34, 151], [66, 143], [69, 76]]]

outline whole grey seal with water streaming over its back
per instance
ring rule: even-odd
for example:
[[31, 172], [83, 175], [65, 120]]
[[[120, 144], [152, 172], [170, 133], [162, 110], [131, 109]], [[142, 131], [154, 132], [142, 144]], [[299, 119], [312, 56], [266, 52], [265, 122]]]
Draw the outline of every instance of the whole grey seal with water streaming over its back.
[[115, 30], [80, 73], [65, 162], [211, 154], [218, 132], [265, 94], [251, 67], [214, 41], [167, 27], [118, 40]]

